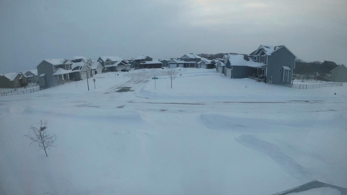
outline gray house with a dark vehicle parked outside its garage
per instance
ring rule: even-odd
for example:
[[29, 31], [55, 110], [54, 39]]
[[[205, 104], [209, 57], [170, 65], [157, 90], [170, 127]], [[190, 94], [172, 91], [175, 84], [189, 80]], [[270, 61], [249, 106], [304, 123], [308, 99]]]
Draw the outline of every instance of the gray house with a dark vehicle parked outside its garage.
[[98, 62], [103, 67], [103, 72], [118, 72], [121, 69], [130, 69], [130, 64], [119, 56], [100, 56]]

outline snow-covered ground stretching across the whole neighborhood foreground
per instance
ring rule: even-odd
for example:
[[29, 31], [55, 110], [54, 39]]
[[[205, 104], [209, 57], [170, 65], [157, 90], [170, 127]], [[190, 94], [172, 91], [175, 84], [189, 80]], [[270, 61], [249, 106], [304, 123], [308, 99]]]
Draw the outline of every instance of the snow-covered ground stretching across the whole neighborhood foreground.
[[[299, 90], [186, 68], [171, 89], [166, 71], [0, 97], [0, 194], [269, 195], [314, 179], [347, 187], [347, 84]], [[48, 157], [23, 138], [40, 119], [58, 137]]]

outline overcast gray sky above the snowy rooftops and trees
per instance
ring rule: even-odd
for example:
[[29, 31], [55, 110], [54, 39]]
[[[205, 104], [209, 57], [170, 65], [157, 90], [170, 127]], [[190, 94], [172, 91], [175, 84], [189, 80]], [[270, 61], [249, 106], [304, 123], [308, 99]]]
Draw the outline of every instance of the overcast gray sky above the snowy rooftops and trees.
[[347, 0], [0, 0], [0, 73], [43, 59], [251, 53], [347, 63]]

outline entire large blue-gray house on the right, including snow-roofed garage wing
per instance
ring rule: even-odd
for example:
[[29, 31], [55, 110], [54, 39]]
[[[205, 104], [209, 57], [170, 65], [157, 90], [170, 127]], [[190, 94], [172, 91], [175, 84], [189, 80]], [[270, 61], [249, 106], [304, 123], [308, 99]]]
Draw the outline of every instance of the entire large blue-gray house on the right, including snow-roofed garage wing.
[[273, 85], [290, 86], [297, 57], [285, 45], [260, 45], [249, 56], [228, 54], [225, 58], [226, 77], [251, 77]]

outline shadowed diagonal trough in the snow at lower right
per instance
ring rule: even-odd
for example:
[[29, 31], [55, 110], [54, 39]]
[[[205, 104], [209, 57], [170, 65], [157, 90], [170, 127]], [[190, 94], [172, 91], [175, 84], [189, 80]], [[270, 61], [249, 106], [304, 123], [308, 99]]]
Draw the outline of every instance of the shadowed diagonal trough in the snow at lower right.
[[282, 169], [296, 179], [312, 179], [308, 170], [297, 163], [293, 158], [282, 153], [280, 148], [269, 142], [263, 141], [254, 135], [242, 135], [235, 140], [247, 147], [262, 152], [271, 157]]

